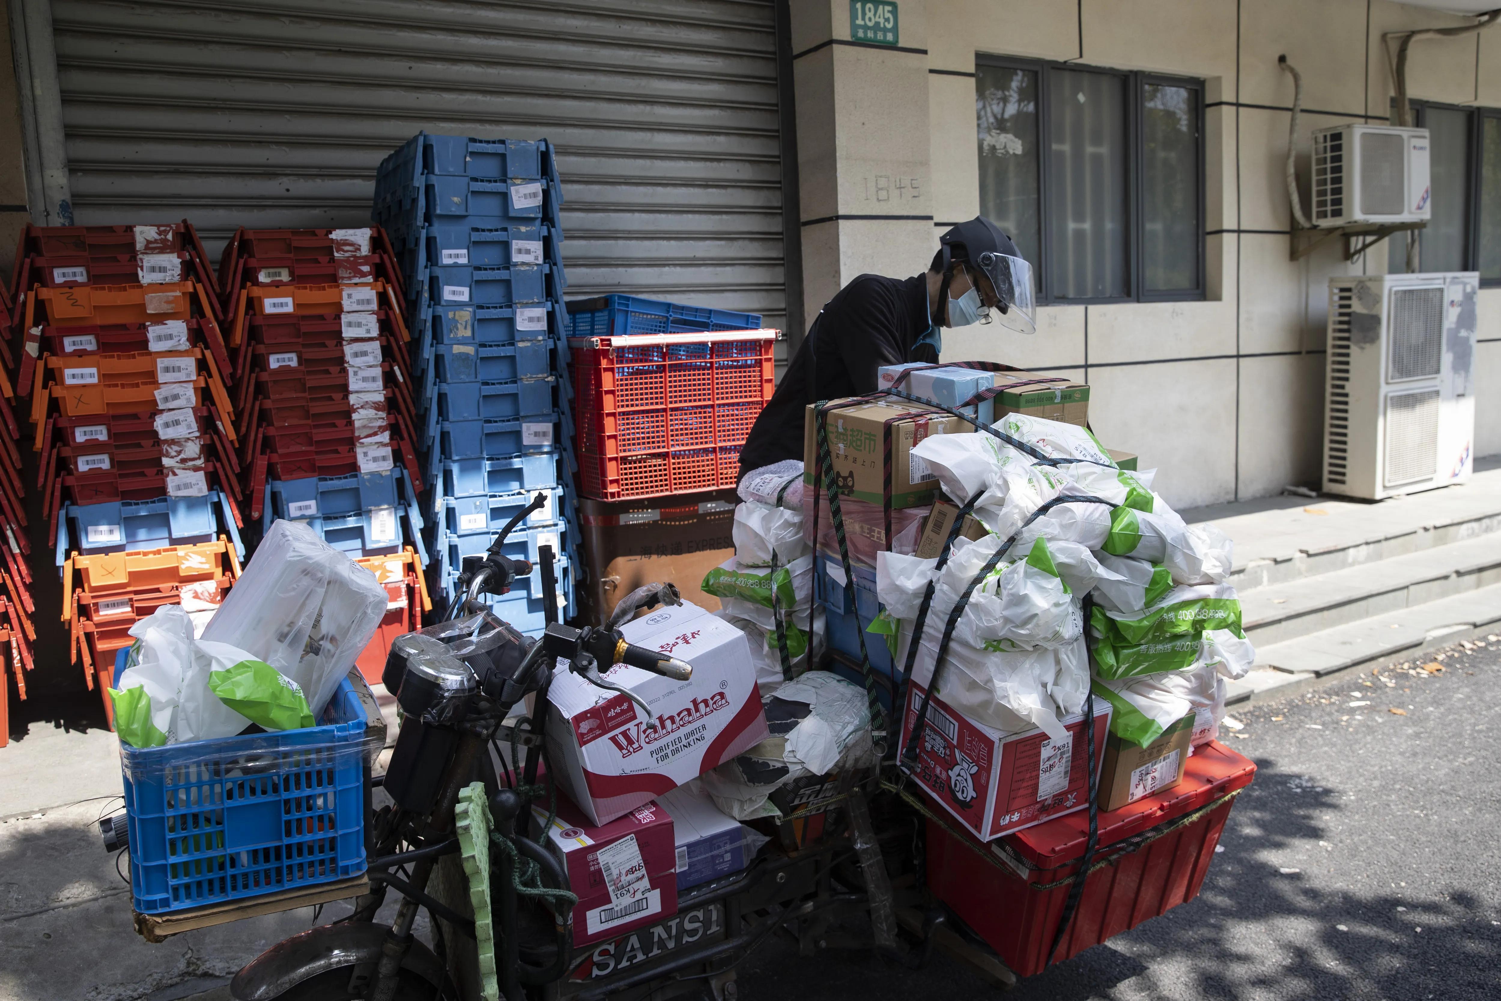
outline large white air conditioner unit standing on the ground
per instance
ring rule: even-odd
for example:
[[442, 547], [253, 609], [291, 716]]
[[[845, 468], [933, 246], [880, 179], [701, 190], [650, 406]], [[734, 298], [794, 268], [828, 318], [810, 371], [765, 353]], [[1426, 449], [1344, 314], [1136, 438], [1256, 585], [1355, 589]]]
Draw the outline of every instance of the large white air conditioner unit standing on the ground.
[[1475, 272], [1328, 282], [1324, 492], [1463, 483], [1474, 459]]

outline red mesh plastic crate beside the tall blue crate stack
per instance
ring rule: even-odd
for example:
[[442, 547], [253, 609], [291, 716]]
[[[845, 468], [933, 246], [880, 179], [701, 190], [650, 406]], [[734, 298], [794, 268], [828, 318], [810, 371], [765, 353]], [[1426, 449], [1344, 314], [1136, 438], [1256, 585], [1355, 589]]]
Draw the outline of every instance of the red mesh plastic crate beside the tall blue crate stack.
[[775, 330], [572, 338], [584, 494], [734, 486], [740, 446], [776, 390]]

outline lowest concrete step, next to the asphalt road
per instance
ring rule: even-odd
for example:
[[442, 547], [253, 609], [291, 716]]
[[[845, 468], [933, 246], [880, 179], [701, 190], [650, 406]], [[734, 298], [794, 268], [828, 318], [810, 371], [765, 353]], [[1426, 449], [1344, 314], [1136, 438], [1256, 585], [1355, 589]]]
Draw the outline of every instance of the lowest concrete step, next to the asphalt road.
[[1501, 584], [1259, 647], [1258, 669], [1231, 683], [1231, 701], [1280, 698], [1297, 683], [1414, 657], [1484, 632], [1501, 632]]

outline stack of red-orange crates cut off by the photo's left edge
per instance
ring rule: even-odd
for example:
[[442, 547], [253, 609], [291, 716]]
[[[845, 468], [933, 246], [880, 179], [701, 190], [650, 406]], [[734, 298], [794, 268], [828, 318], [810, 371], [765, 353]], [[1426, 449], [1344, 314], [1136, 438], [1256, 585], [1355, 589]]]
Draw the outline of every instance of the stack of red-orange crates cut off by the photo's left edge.
[[26, 671], [32, 669], [32, 641], [36, 630], [30, 614], [36, 611], [32, 600], [32, 567], [27, 554], [32, 549], [26, 537], [26, 507], [21, 488], [21, 453], [17, 449], [20, 428], [15, 419], [15, 369], [20, 345], [15, 344], [15, 300], [11, 291], [0, 285], [0, 747], [9, 734], [9, 686], [26, 698]]

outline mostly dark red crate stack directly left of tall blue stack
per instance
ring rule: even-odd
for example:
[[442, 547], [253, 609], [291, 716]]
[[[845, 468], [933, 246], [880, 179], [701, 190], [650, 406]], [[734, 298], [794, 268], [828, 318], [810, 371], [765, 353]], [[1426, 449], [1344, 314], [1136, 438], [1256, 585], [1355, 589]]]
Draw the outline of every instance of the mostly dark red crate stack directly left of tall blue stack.
[[[432, 608], [405, 297], [390, 243], [378, 227], [240, 230], [219, 275], [251, 518], [263, 527], [303, 519], [375, 573], [387, 612], [359, 665], [378, 681], [390, 641], [419, 629]], [[410, 530], [392, 545], [371, 545], [381, 539], [369, 512], [321, 509], [324, 497], [354, 494], [330, 486], [357, 485], [357, 495], [374, 497], [393, 479], [392, 494], [410, 503]]]

